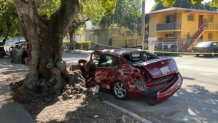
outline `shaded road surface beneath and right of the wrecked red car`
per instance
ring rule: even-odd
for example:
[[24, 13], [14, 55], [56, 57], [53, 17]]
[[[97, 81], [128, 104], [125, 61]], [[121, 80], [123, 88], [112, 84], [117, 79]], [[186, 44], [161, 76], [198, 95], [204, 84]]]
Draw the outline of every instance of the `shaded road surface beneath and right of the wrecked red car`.
[[210, 92], [199, 85], [187, 88], [179, 89], [174, 96], [155, 106], [146, 104], [146, 98], [123, 101], [108, 93], [103, 93], [102, 97], [154, 123], [216, 123], [218, 91]]

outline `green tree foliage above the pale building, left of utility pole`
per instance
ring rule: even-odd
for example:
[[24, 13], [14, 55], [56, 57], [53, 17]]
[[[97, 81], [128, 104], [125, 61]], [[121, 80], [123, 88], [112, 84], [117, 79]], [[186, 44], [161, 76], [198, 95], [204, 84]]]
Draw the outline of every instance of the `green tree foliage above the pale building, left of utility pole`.
[[117, 0], [114, 13], [104, 16], [99, 25], [101, 28], [109, 28], [112, 24], [117, 24], [136, 31], [140, 7], [140, 0]]

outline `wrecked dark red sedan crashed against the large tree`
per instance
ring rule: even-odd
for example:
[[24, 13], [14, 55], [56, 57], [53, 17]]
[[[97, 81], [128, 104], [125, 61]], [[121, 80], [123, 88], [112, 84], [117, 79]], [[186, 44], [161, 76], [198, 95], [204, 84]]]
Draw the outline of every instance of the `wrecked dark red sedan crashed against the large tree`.
[[81, 59], [78, 66], [87, 84], [93, 80], [118, 99], [146, 96], [150, 104], [173, 95], [183, 81], [173, 59], [159, 58], [139, 49], [94, 51], [89, 62]]

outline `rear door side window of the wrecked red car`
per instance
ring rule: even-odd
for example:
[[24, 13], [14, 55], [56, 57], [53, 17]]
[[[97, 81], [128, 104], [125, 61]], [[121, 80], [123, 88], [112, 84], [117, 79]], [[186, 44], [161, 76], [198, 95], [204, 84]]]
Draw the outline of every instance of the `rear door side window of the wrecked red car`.
[[116, 59], [111, 55], [102, 55], [98, 64], [99, 67], [114, 67], [116, 65]]

